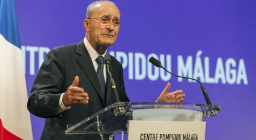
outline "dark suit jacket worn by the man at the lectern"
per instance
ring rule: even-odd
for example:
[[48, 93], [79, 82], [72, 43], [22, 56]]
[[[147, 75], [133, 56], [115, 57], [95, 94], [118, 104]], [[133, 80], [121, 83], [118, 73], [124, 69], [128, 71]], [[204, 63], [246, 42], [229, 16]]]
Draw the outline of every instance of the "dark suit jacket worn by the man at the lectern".
[[[116, 81], [121, 101], [129, 101], [124, 89], [121, 63], [111, 56], [110, 71]], [[79, 76], [79, 87], [89, 95], [88, 104], [75, 104], [59, 114], [59, 98]], [[41, 139], [100, 139], [98, 135], [67, 135], [67, 124], [76, 124], [95, 112], [113, 104], [115, 98], [107, 76], [106, 96], [101, 95], [95, 68], [83, 41], [51, 50], [41, 65], [28, 99], [28, 110], [44, 117], [45, 128]]]

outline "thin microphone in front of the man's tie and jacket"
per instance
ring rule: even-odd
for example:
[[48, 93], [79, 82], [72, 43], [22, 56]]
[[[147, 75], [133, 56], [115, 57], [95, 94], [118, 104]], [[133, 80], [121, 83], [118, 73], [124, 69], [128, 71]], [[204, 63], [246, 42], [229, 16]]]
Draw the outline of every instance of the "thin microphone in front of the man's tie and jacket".
[[111, 56], [106, 54], [105, 55], [105, 64], [106, 64], [106, 70], [108, 71], [109, 77], [110, 77], [110, 82], [111, 82], [111, 88], [114, 91], [114, 97], [116, 98], [116, 102], [120, 102], [119, 100], [119, 96], [117, 94], [117, 90], [116, 90], [116, 82], [114, 82], [114, 79], [112, 77], [111, 72], [109, 71], [109, 64], [111, 62]]

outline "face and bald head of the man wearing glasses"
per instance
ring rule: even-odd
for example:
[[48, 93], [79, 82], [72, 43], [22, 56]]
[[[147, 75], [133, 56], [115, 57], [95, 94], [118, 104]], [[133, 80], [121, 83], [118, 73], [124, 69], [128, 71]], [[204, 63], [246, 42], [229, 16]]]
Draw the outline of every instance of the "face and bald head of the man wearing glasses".
[[[106, 20], [108, 22], [104, 23], [103, 21]], [[97, 4], [92, 17], [84, 21], [88, 42], [93, 47], [97, 44], [113, 45], [119, 31], [119, 26], [116, 26], [114, 22], [120, 23], [120, 12], [117, 7], [109, 2]]]

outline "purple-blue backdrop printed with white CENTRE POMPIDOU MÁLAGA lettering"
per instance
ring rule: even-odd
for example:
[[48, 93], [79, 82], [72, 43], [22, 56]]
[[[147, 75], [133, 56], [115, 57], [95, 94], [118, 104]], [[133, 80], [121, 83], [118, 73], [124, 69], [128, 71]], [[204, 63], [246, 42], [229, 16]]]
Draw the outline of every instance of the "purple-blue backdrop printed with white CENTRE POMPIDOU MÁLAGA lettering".
[[[27, 89], [49, 49], [85, 36], [85, 10], [92, 1], [15, 1]], [[109, 53], [124, 67], [131, 101], [155, 101], [167, 81], [186, 103], [205, 103], [199, 85], [177, 79], [147, 62], [156, 56], [176, 74], [202, 80], [223, 111], [207, 120], [206, 139], [254, 139], [256, 133], [256, 1], [114, 1], [121, 29]], [[44, 119], [31, 115], [33, 138]]]

